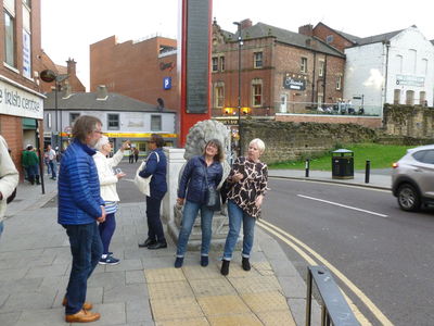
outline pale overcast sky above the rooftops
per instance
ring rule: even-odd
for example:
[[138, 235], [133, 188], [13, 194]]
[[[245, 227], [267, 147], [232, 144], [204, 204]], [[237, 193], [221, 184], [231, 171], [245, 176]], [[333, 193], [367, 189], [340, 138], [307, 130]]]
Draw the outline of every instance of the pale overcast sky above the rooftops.
[[[214, 0], [213, 17], [221, 28], [251, 18], [297, 32], [322, 22], [334, 29], [367, 37], [417, 25], [434, 39], [429, 0]], [[56, 63], [77, 62], [89, 91], [89, 46], [116, 35], [118, 42], [155, 35], [177, 38], [178, 0], [41, 0], [42, 49]]]

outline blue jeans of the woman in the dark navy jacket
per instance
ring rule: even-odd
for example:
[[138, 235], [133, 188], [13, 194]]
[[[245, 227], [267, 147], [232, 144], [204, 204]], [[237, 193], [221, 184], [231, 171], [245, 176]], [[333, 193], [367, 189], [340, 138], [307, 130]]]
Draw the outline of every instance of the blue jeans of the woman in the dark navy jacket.
[[201, 255], [208, 255], [214, 212], [205, 205], [187, 200], [183, 206], [181, 229], [179, 230], [177, 256], [182, 258], [186, 254], [187, 243], [199, 211], [201, 211], [202, 229]]

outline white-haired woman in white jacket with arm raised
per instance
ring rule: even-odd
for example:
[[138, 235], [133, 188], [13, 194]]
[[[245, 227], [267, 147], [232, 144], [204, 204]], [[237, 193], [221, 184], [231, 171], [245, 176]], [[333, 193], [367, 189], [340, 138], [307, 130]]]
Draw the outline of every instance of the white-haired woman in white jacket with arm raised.
[[93, 160], [97, 165], [98, 176], [101, 185], [101, 197], [105, 202], [105, 221], [100, 223], [99, 230], [103, 246], [103, 253], [100, 259], [101, 265], [117, 265], [119, 260], [112, 255], [108, 251], [110, 242], [116, 228], [115, 213], [118, 209], [117, 202], [119, 196], [116, 191], [116, 184], [119, 179], [125, 177], [123, 172], [113, 172], [113, 168], [119, 164], [124, 158], [124, 151], [129, 147], [129, 140], [125, 141], [120, 149], [107, 159], [107, 155], [112, 152], [112, 145], [108, 141], [108, 137], [102, 136], [95, 145], [97, 154], [93, 155]]

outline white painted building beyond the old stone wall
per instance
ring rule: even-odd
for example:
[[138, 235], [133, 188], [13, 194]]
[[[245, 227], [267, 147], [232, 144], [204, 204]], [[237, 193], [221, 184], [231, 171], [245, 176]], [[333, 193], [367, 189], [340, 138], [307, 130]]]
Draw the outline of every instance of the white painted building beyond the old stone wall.
[[384, 103], [434, 105], [434, 46], [416, 26], [358, 39], [345, 54], [344, 99], [362, 99], [366, 113]]

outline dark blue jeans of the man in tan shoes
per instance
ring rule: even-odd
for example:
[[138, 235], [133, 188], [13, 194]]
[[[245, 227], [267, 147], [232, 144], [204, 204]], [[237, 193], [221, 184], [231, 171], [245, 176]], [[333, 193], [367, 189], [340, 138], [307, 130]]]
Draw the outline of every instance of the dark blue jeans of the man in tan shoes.
[[102, 242], [97, 222], [64, 225], [69, 237], [73, 266], [66, 288], [65, 314], [79, 312], [86, 300], [88, 278], [101, 259]]

